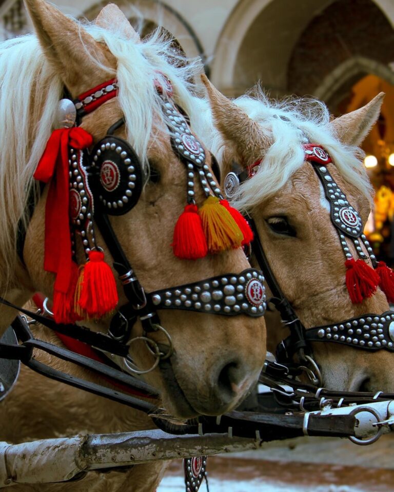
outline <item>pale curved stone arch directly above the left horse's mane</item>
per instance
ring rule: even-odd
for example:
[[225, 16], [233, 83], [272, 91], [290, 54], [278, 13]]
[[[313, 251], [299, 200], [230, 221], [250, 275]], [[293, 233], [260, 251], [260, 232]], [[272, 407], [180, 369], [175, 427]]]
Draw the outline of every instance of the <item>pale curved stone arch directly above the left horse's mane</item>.
[[[108, 0], [102, 0], [94, 4], [84, 12], [84, 16], [89, 20], [94, 19], [107, 3]], [[140, 17], [144, 19], [145, 23], [153, 23], [165, 27], [178, 39], [188, 57], [199, 56], [205, 62], [204, 50], [198, 36], [186, 19], [169, 5], [157, 0], [144, 0], [134, 3], [128, 0], [113, 0], [113, 3], [122, 9], [129, 19]]]

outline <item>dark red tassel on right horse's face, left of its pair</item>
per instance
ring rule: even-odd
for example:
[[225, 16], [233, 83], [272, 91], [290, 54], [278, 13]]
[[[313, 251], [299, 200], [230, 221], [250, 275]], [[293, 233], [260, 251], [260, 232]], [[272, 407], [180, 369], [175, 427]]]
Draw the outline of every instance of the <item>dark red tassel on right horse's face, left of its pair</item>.
[[360, 304], [375, 294], [379, 285], [379, 275], [365, 261], [354, 258], [345, 261], [346, 287], [353, 304]]

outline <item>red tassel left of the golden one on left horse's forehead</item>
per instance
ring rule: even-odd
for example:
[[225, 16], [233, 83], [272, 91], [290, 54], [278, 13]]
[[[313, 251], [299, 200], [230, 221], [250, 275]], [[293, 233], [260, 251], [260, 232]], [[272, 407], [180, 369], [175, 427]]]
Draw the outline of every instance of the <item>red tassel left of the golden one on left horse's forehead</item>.
[[175, 256], [185, 260], [196, 260], [207, 255], [207, 240], [196, 205], [186, 205], [176, 221], [172, 248]]

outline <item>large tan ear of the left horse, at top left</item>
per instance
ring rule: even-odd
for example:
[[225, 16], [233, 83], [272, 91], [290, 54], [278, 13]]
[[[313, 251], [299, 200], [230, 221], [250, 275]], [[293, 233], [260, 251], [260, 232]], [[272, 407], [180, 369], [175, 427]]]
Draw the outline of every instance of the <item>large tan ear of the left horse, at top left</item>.
[[91, 87], [93, 74], [97, 84], [109, 78], [115, 57], [80, 24], [44, 0], [25, 0], [25, 5], [45, 55], [73, 96]]

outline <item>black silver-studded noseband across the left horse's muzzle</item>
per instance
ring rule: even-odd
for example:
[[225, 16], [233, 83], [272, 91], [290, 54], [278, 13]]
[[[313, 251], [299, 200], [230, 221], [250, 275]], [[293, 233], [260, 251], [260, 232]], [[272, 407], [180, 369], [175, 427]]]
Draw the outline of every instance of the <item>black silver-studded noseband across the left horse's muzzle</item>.
[[150, 297], [156, 309], [260, 317], [267, 308], [263, 283], [260, 270], [248, 269], [240, 274], [220, 275], [155, 291]]

